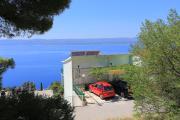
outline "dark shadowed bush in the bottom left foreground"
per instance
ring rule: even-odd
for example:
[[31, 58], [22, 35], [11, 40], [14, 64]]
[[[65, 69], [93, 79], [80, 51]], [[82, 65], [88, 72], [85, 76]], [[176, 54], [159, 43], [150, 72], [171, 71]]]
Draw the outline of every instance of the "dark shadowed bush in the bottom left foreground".
[[0, 97], [0, 120], [73, 120], [73, 108], [60, 96], [42, 98], [27, 92]]

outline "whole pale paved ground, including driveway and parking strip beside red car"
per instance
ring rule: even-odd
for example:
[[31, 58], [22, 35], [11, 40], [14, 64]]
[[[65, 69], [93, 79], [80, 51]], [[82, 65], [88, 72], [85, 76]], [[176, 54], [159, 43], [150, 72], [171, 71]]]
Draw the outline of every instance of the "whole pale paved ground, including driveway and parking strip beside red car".
[[127, 100], [118, 95], [102, 100], [89, 91], [84, 91], [84, 94], [87, 106], [75, 107], [75, 120], [107, 120], [133, 116], [133, 100]]

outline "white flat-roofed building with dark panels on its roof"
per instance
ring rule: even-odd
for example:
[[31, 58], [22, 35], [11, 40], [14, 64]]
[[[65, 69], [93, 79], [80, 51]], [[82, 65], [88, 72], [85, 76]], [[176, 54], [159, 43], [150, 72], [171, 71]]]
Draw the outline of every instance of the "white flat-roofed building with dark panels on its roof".
[[132, 63], [129, 54], [101, 55], [99, 51], [77, 51], [63, 61], [64, 98], [73, 105], [73, 86], [95, 82], [89, 70]]

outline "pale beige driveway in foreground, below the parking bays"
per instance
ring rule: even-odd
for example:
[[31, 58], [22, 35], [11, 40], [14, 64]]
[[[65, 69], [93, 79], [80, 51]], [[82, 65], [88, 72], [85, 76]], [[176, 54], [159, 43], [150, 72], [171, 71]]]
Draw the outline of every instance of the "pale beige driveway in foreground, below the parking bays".
[[99, 104], [88, 104], [75, 108], [75, 120], [106, 120], [108, 118], [124, 118], [133, 115], [133, 100], [104, 101]]

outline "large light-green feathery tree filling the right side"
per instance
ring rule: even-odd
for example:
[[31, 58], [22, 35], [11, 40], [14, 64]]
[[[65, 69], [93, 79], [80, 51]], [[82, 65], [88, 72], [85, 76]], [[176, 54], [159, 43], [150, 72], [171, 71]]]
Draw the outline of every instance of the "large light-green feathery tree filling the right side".
[[146, 20], [132, 54], [141, 66], [128, 66], [135, 108], [145, 119], [180, 118], [180, 16], [171, 10], [167, 22]]

